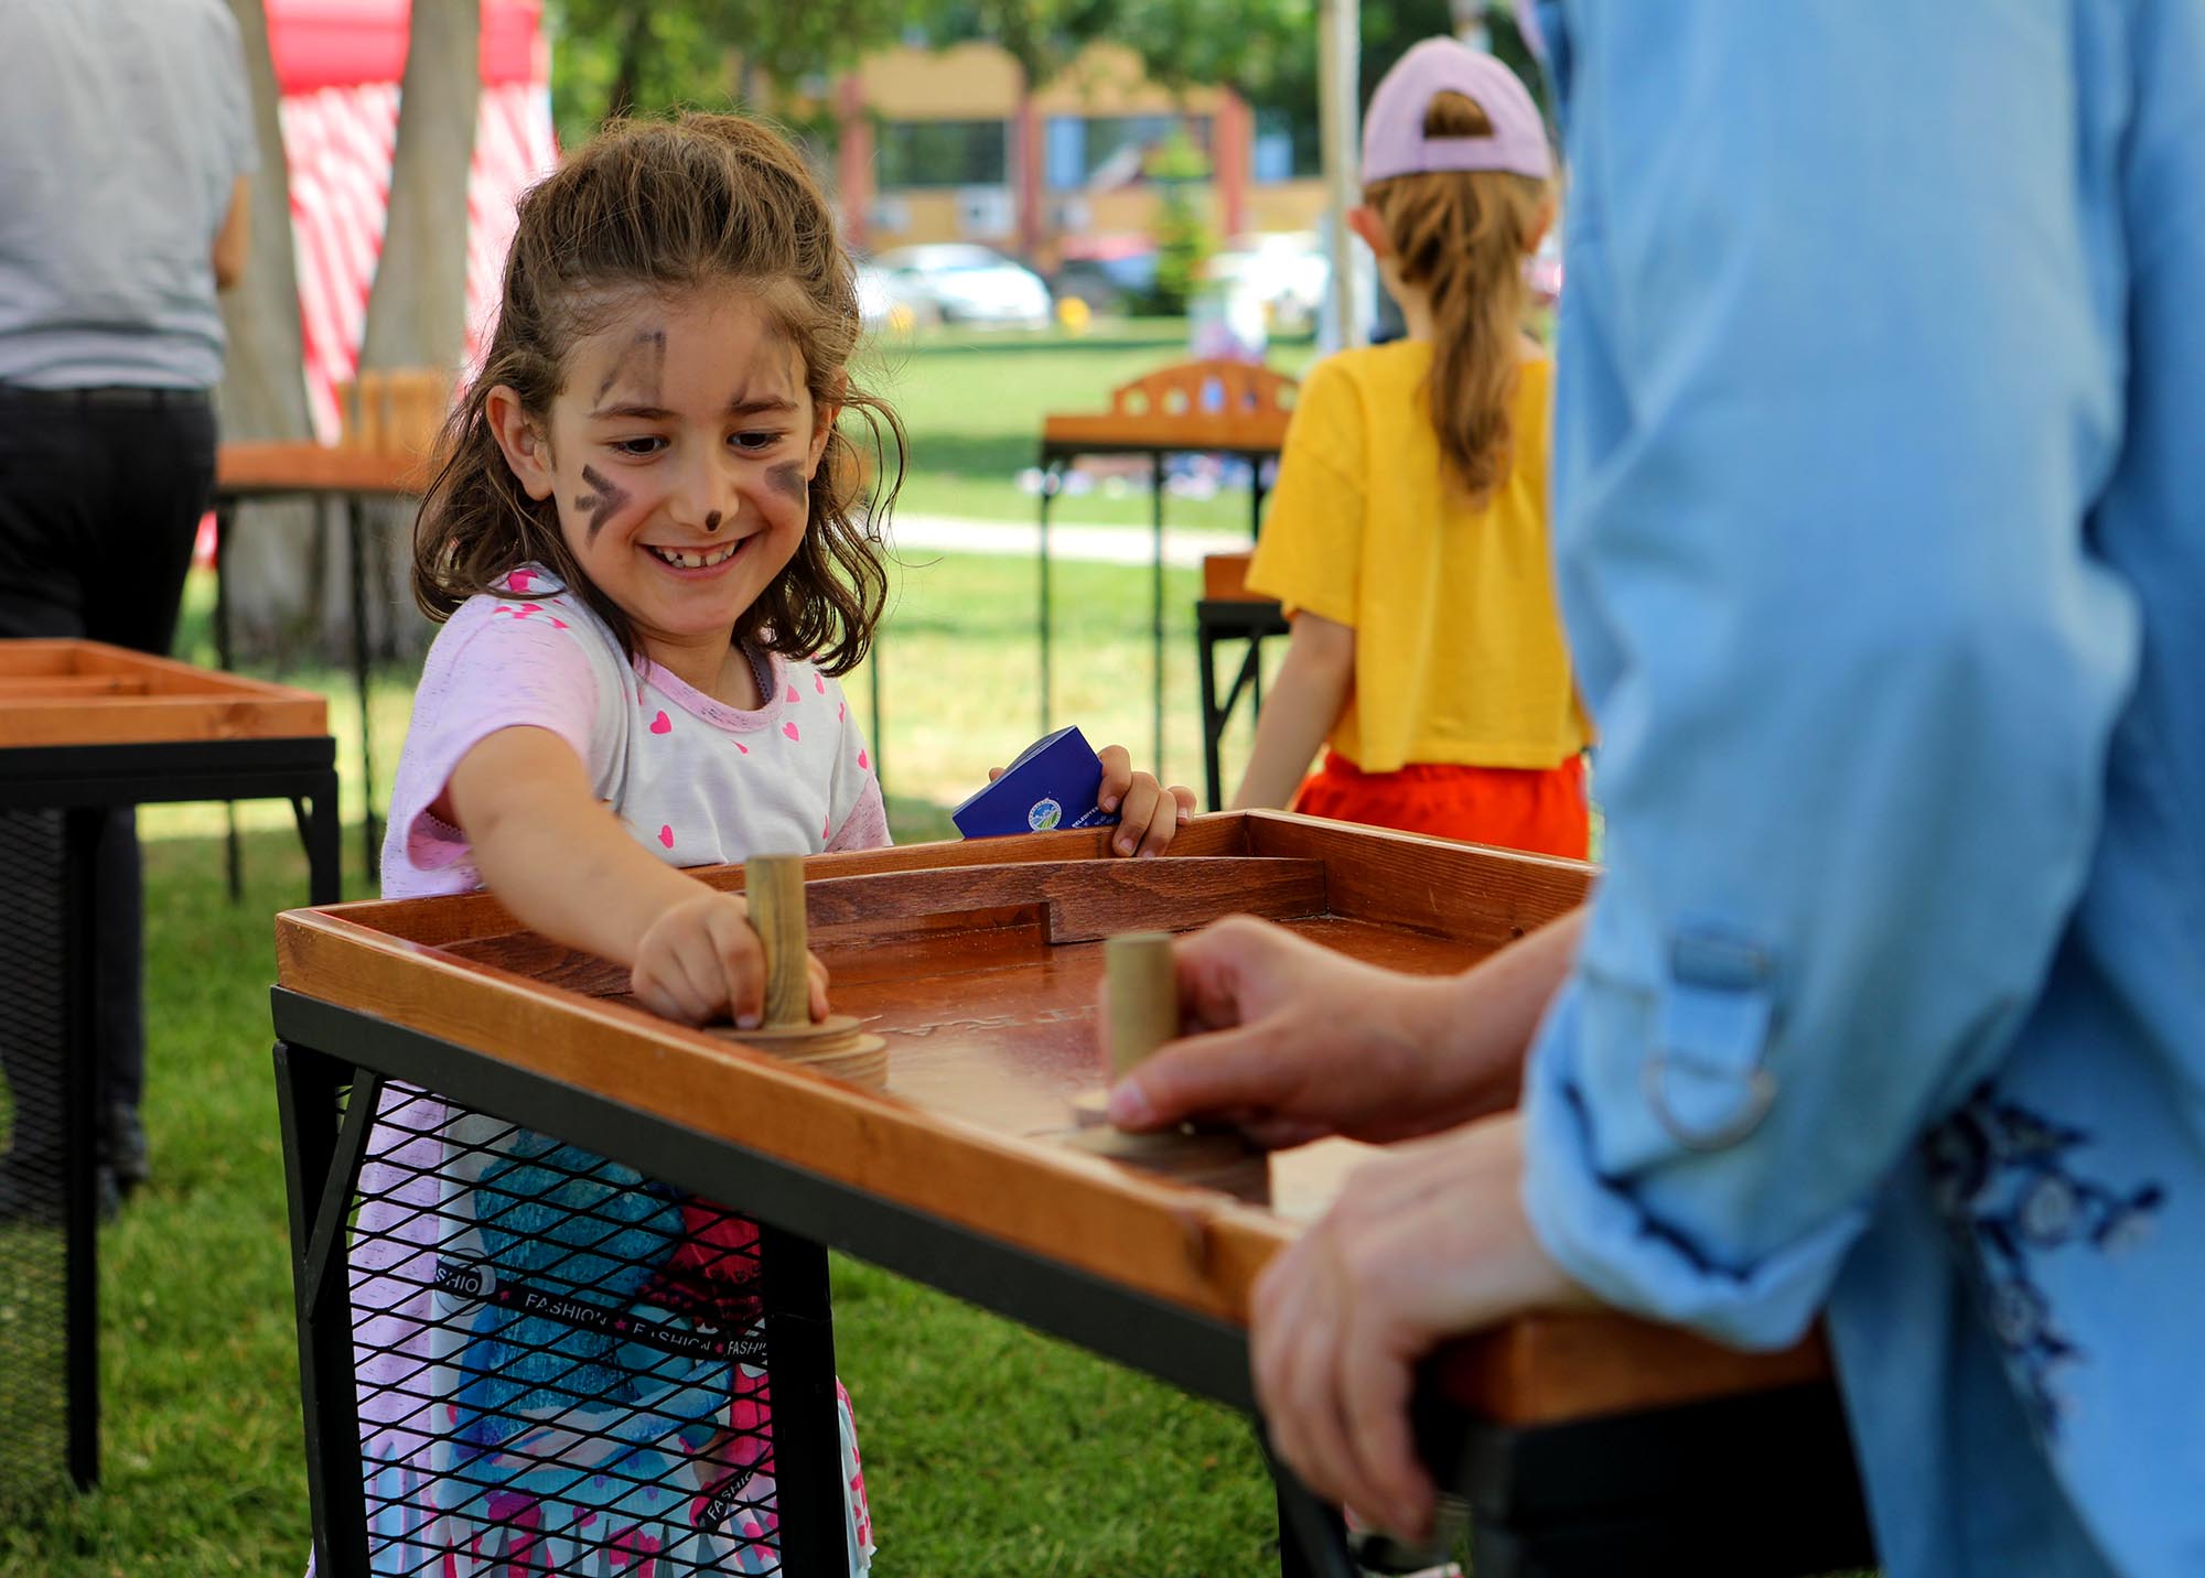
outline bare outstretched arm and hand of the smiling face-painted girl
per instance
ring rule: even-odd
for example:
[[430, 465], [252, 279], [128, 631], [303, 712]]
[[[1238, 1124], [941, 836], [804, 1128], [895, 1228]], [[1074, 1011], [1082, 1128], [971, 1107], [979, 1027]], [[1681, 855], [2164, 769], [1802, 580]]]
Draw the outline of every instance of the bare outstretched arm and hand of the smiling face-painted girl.
[[[545, 937], [628, 965], [668, 1018], [756, 1025], [765, 954], [739, 895], [655, 860], [593, 796], [582, 760], [549, 729], [509, 727], [470, 749], [437, 809], [467, 835], [485, 886]], [[811, 1014], [827, 972], [811, 961]]]

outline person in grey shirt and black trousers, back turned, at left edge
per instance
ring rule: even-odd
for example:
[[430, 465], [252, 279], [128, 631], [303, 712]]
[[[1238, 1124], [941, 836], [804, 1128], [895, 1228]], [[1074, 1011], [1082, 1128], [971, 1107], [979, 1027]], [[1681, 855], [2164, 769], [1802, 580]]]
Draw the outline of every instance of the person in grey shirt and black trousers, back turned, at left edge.
[[[256, 167], [220, 0], [0, 0], [0, 637], [168, 652]], [[146, 1179], [139, 851], [95, 857], [101, 1199]], [[15, 1071], [11, 1069], [11, 1084]], [[9, 1175], [60, 1131], [15, 1135]], [[0, 1188], [0, 1203], [9, 1190]]]

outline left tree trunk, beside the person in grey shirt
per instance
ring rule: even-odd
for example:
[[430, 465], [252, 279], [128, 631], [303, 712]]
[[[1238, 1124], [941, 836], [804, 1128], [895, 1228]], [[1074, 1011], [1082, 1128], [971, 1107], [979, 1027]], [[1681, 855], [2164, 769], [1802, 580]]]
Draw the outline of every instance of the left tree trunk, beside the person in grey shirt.
[[[251, 256], [223, 293], [229, 359], [218, 392], [225, 439], [313, 439], [300, 350], [298, 264], [291, 256], [291, 183], [284, 172], [276, 64], [260, 0], [229, 0], [254, 93], [260, 172], [251, 179]], [[247, 505], [225, 544], [225, 593], [238, 652], [278, 652], [311, 622], [313, 511]]]

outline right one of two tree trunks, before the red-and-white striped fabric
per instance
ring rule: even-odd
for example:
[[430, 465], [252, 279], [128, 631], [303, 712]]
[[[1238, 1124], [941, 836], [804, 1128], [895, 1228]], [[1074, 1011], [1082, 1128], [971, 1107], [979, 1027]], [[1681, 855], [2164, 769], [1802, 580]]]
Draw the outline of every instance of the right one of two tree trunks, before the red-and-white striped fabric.
[[[415, 0], [390, 156], [390, 218], [359, 346], [366, 370], [432, 370], [456, 379], [467, 353], [467, 172], [481, 97], [481, 0]], [[368, 626], [412, 646], [412, 509], [373, 511]], [[344, 553], [333, 555], [346, 569]], [[348, 608], [333, 624], [348, 624]]]

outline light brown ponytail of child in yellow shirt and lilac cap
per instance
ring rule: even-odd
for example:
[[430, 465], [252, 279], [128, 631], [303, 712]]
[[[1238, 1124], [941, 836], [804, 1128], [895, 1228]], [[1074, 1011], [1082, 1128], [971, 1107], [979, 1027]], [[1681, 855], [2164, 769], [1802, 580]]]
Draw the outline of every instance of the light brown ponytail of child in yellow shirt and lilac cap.
[[[1424, 137], [1491, 132], [1473, 99], [1433, 95]], [[1508, 410], [1530, 306], [1524, 253], [1550, 187], [1480, 170], [1374, 181], [1363, 196], [1387, 229], [1402, 280], [1431, 298], [1431, 425], [1440, 456], [1469, 496], [1484, 500], [1508, 476]]]

